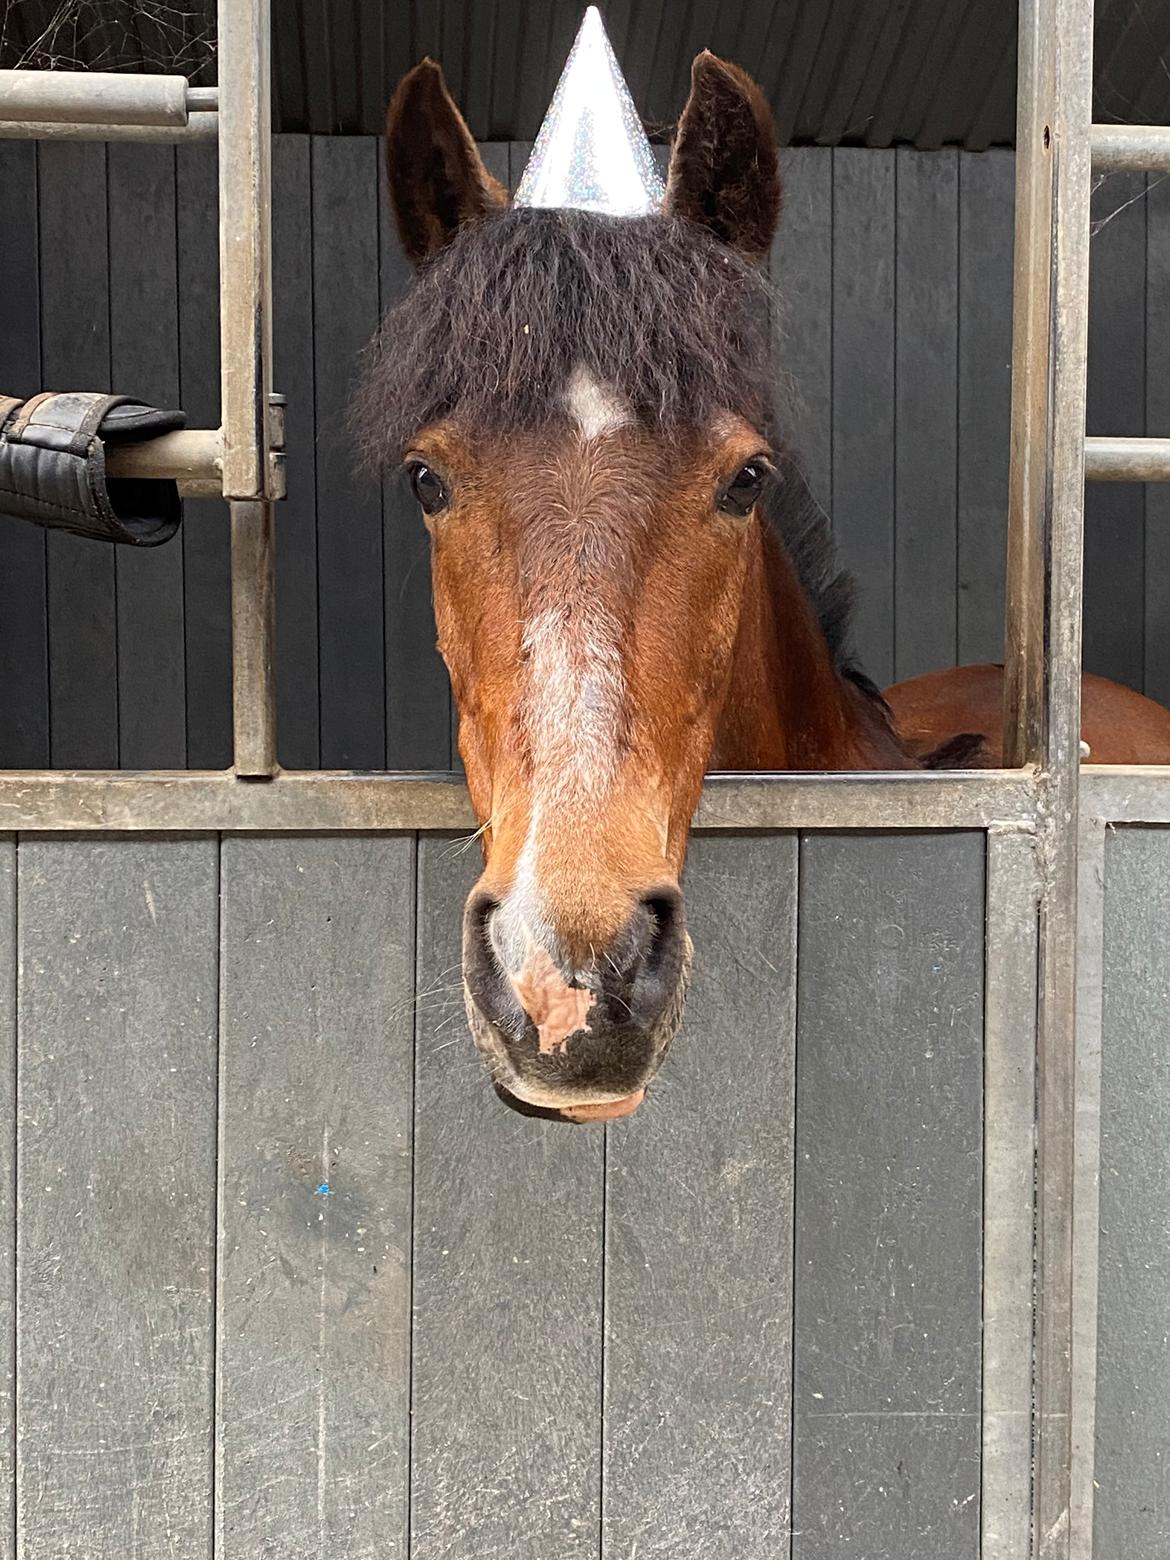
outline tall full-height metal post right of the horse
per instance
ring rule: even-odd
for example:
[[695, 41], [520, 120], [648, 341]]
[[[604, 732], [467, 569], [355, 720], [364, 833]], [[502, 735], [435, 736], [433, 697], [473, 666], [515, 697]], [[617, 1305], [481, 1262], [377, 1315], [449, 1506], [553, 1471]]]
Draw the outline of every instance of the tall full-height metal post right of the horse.
[[1044, 774], [1033, 1552], [1069, 1560], [1092, 0], [1020, 0], [1008, 761]]

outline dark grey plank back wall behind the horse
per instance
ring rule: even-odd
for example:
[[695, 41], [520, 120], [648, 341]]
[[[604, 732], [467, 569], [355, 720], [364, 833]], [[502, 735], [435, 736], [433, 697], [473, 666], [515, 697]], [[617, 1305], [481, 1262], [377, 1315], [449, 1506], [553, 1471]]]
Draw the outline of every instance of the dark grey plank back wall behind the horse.
[[[515, 179], [527, 147], [487, 148]], [[802, 148], [772, 256], [792, 427], [861, 587], [878, 682], [1002, 646], [1011, 153]], [[1090, 429], [1165, 432], [1170, 190], [1097, 195]], [[1125, 204], [1131, 201], [1131, 204]], [[0, 145], [0, 388], [105, 387], [217, 420], [207, 148]], [[278, 137], [281, 753], [446, 768], [424, 535], [396, 482], [353, 473], [354, 356], [406, 265], [370, 137]], [[1147, 363], [1150, 371], [1147, 371]], [[1086, 665], [1170, 699], [1170, 495], [1094, 488]], [[0, 524], [0, 764], [228, 761], [223, 505], [148, 554]]]

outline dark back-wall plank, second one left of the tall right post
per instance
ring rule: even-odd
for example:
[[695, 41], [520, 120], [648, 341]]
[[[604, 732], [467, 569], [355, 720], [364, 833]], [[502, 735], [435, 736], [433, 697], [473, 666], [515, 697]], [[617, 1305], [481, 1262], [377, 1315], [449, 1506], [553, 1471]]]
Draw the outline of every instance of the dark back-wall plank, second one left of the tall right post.
[[897, 156], [894, 675], [955, 663], [958, 153]]

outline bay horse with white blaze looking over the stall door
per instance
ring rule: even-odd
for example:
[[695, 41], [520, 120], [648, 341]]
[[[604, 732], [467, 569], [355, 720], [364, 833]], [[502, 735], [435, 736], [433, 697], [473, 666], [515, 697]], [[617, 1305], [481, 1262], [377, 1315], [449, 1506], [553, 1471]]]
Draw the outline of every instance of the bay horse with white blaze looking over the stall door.
[[470, 1028], [509, 1103], [605, 1120], [682, 1017], [704, 774], [986, 761], [997, 722], [953, 675], [883, 700], [850, 654], [850, 582], [775, 434], [780, 173], [744, 72], [694, 61], [654, 215], [509, 206], [431, 61], [388, 106], [387, 170], [418, 270], [356, 426], [431, 534], [482, 824]]

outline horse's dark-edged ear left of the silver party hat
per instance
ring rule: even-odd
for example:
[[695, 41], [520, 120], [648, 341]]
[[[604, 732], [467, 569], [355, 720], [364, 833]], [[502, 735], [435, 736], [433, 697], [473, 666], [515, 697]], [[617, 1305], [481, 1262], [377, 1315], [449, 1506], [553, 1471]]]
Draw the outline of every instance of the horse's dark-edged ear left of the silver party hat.
[[463, 223], [507, 206], [434, 59], [407, 72], [390, 98], [385, 170], [398, 236], [415, 265], [445, 248]]

